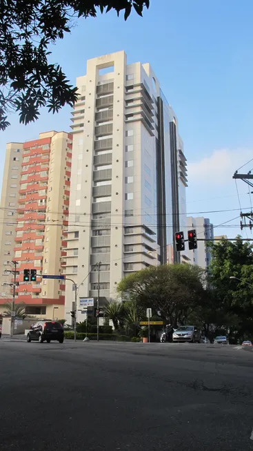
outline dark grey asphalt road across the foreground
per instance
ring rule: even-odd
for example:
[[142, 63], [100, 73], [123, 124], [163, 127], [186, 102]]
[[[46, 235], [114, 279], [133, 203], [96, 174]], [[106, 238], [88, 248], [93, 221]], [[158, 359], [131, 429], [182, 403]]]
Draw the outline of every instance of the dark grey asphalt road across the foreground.
[[0, 340], [0, 449], [253, 450], [252, 359], [232, 346]]

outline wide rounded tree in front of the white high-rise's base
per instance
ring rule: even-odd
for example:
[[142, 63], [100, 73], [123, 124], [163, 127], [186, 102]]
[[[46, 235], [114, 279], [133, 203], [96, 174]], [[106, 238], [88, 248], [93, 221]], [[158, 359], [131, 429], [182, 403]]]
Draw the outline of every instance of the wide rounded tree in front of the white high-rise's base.
[[126, 276], [117, 287], [121, 298], [144, 311], [152, 307], [176, 326], [203, 298], [203, 270], [196, 265], [161, 265]]

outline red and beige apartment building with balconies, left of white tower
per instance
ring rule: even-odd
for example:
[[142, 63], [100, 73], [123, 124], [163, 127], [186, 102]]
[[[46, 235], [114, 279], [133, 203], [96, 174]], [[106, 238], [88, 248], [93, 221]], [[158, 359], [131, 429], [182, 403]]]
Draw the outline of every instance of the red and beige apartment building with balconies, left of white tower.
[[[14, 143], [8, 144], [7, 161], [9, 153], [12, 155], [9, 148], [14, 146]], [[55, 131], [40, 133], [39, 139], [25, 142], [22, 146], [16, 179], [18, 188], [15, 188], [16, 203], [12, 210], [14, 223], [8, 226], [14, 241], [10, 246], [10, 260], [17, 261], [18, 271], [15, 302], [25, 303], [29, 315], [48, 319], [64, 318], [65, 284], [59, 280], [43, 280], [41, 275], [61, 274], [64, 265], [62, 259], [68, 227], [72, 135]], [[3, 177], [5, 179], [9, 179], [6, 182], [8, 186], [11, 182], [8, 171]], [[3, 186], [2, 202], [4, 199]], [[1, 256], [5, 252], [6, 244], [2, 244]], [[9, 266], [8, 269], [13, 268]], [[23, 282], [24, 269], [36, 269], [37, 281]], [[13, 275], [8, 277], [13, 282]], [[11, 290], [7, 288], [10, 298]], [[1, 298], [0, 309], [3, 303], [4, 299]]]

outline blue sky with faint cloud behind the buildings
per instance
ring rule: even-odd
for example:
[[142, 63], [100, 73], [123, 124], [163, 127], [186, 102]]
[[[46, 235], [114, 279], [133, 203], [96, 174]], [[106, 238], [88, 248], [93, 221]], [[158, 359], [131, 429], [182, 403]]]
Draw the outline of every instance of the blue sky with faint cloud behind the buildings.
[[[133, 12], [125, 22], [110, 12], [77, 21], [50, 57], [73, 84], [92, 57], [125, 50], [129, 64], [150, 62], [179, 119], [189, 164], [188, 212], [216, 225], [239, 215], [232, 174], [253, 158], [252, 17], [252, 0], [150, 0], [143, 18]], [[0, 134], [1, 173], [6, 142], [52, 128], [68, 131], [69, 117], [68, 107], [58, 115], [43, 110], [37, 122], [23, 126], [12, 115]], [[250, 208], [246, 184], [239, 181], [238, 189], [241, 207]], [[230, 211], [198, 214], [216, 210]], [[239, 218], [228, 224], [233, 227], [215, 233], [239, 233]]]

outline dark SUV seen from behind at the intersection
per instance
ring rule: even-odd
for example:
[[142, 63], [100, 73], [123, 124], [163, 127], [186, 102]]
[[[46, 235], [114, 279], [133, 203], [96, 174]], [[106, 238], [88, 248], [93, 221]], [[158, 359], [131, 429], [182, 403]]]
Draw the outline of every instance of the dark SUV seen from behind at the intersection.
[[43, 343], [43, 341], [50, 343], [51, 340], [57, 340], [59, 343], [63, 343], [63, 327], [57, 321], [39, 321], [33, 326], [30, 326], [30, 331], [26, 339], [28, 343], [32, 340], [39, 341], [39, 343]]

